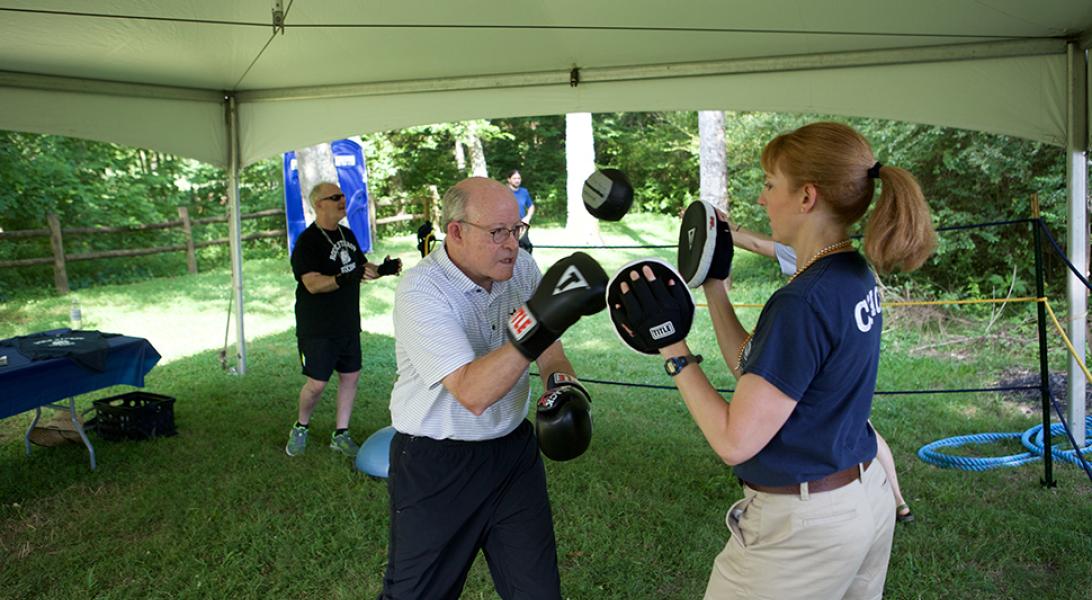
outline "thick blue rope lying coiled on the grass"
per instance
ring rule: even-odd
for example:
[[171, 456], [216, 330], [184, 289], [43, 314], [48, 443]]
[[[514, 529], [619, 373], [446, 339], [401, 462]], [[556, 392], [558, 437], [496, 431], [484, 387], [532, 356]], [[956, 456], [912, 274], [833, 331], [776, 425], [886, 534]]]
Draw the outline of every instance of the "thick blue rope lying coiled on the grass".
[[[1085, 444], [1084, 447], [1081, 448], [1081, 454], [1087, 457], [1085, 460], [1090, 460], [1092, 459], [1092, 415], [1084, 419], [1084, 428]], [[1064, 432], [1065, 427], [1061, 423], [1054, 423], [1051, 425], [1051, 435], [1058, 435]], [[1010, 439], [1017, 437], [1020, 438], [1020, 442], [1023, 444], [1024, 448], [1028, 448], [1029, 451], [1019, 455], [996, 457], [953, 456], [938, 451], [938, 448], [950, 448], [963, 446], [964, 444], [988, 444], [999, 439]], [[1052, 446], [1051, 454], [1054, 455], [1054, 458], [1057, 460], [1080, 466], [1080, 460], [1077, 458], [1077, 450], [1073, 448], [1063, 450], [1057, 446]], [[999, 469], [1001, 467], [1019, 467], [1021, 464], [1028, 464], [1029, 462], [1035, 462], [1036, 460], [1043, 458], [1043, 425], [1035, 425], [1022, 434], [985, 433], [946, 437], [922, 446], [922, 448], [917, 450], [917, 458], [936, 467], [961, 469], [964, 471], [986, 471], [989, 469]]]

